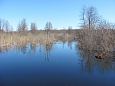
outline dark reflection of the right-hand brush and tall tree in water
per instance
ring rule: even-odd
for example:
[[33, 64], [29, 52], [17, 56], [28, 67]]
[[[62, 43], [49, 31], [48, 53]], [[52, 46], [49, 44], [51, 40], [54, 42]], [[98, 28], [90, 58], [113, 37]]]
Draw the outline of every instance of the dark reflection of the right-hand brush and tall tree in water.
[[113, 53], [108, 52], [104, 59], [96, 59], [95, 54], [97, 51], [88, 51], [83, 48], [79, 48], [79, 51], [81, 55], [81, 66], [82, 69], [84, 68], [82, 71], [87, 70], [88, 72], [92, 72], [97, 68], [104, 72], [115, 69], [115, 64], [113, 64]]

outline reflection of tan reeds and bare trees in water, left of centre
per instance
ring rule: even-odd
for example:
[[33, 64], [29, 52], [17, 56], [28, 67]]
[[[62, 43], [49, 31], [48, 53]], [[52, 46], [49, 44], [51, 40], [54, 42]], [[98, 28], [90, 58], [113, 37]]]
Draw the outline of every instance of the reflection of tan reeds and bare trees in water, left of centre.
[[44, 55], [45, 61], [49, 62], [50, 52], [53, 48], [53, 45], [54, 43], [49, 43], [49, 44], [25, 43], [22, 45], [16, 45], [15, 47], [17, 49], [17, 52], [20, 52], [24, 55], [28, 55], [31, 53], [32, 54], [42, 53]]

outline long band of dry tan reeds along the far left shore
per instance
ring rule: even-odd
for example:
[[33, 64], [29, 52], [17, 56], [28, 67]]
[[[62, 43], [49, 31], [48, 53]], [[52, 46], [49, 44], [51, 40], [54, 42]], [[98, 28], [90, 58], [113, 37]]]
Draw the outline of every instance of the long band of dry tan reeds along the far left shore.
[[10, 47], [12, 45], [23, 45], [25, 43], [41, 43], [49, 44], [55, 41], [71, 41], [74, 40], [75, 31], [36, 31], [34, 33], [28, 32], [1, 32], [0, 33], [0, 47]]

